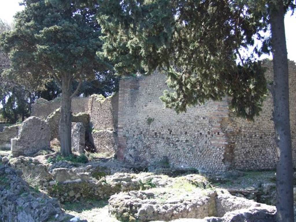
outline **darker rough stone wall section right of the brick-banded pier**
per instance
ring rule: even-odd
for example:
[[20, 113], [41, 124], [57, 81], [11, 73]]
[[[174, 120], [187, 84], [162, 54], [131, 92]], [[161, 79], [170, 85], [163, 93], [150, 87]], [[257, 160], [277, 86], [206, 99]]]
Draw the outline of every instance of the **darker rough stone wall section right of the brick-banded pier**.
[[[266, 78], [273, 79], [272, 61], [266, 61]], [[292, 151], [296, 166], [296, 66], [289, 61], [289, 102]], [[236, 169], [273, 169], [276, 166], [274, 123], [272, 120], [273, 100], [270, 93], [263, 102], [263, 110], [254, 122], [242, 118], [231, 118], [230, 143], [234, 147], [233, 167]], [[230, 129], [229, 128], [229, 129]]]

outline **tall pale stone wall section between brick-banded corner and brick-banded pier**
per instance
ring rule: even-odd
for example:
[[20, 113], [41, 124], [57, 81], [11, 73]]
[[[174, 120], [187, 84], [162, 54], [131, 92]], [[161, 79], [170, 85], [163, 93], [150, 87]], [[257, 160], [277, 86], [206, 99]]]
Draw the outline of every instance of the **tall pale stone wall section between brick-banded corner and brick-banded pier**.
[[221, 120], [228, 118], [227, 99], [208, 101], [176, 114], [159, 99], [165, 75], [120, 81], [118, 158], [144, 165], [168, 160], [172, 167], [225, 171], [227, 141]]

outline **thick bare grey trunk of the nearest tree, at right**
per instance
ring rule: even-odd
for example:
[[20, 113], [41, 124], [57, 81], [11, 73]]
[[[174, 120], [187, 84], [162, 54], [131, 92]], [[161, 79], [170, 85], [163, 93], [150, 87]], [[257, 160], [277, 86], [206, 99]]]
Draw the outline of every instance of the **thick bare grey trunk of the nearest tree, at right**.
[[294, 222], [293, 162], [289, 115], [289, 75], [284, 28], [283, 2], [271, 9], [271, 36], [274, 64], [274, 127], [276, 132], [276, 210], [278, 222]]

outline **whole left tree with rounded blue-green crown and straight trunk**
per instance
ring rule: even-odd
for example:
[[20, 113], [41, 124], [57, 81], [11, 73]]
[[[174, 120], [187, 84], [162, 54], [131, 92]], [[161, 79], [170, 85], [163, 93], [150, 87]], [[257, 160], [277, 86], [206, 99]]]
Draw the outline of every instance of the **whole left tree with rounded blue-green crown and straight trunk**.
[[[65, 1], [66, 2], [66, 1]], [[69, 1], [70, 2], [70, 1]], [[1, 35], [9, 54], [5, 75], [33, 88], [55, 78], [62, 89], [60, 141], [62, 155], [71, 154], [71, 99], [83, 80], [94, 79], [106, 63], [96, 56], [102, 43], [100, 27], [90, 9], [73, 4], [56, 7], [47, 0], [24, 0], [15, 28]], [[79, 82], [72, 89], [72, 82]]]

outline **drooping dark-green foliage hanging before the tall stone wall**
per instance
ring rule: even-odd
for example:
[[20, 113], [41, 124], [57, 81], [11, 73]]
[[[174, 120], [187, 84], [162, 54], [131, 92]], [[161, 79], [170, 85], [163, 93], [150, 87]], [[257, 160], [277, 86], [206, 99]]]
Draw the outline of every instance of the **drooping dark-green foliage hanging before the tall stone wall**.
[[242, 58], [239, 49], [254, 45], [253, 36], [264, 41], [259, 30], [266, 31], [267, 23], [240, 1], [126, 0], [99, 6], [104, 33], [99, 55], [110, 59], [117, 73], [164, 71], [175, 91], [166, 91], [162, 100], [177, 112], [227, 94], [237, 115], [258, 115], [267, 93], [264, 70], [253, 57]]

